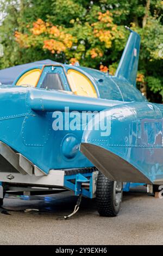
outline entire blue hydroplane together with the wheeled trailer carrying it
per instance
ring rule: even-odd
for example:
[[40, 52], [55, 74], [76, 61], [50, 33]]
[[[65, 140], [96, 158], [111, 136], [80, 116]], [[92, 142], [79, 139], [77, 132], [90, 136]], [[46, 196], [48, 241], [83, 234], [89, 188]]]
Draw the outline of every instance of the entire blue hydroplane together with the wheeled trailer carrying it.
[[[100, 215], [116, 216], [130, 182], [163, 184], [163, 108], [136, 89], [140, 36], [129, 31], [115, 76], [51, 60], [0, 71], [1, 205], [11, 190], [64, 188], [96, 197]], [[75, 113], [76, 129], [70, 129]], [[111, 122], [105, 136], [87, 129], [108, 120], [101, 113]], [[62, 129], [54, 129], [57, 118]], [[124, 188], [122, 182], [128, 182]]]

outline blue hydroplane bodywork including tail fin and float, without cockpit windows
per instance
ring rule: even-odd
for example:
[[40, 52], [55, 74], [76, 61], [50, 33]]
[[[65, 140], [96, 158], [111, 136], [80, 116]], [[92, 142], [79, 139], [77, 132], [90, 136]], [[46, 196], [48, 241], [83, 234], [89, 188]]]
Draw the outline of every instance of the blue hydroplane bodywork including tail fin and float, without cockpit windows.
[[[95, 165], [112, 180], [149, 184], [162, 180], [163, 183], [163, 108], [148, 103], [134, 86], [139, 48], [140, 37], [131, 31], [115, 76], [80, 66], [37, 63], [28, 66], [42, 69], [37, 88], [25, 88], [15, 86], [24, 73], [22, 68], [23, 73], [12, 86], [1, 86], [0, 89], [0, 141], [46, 174], [51, 169]], [[97, 98], [70, 94], [69, 69], [81, 72], [92, 82]], [[68, 93], [41, 88], [48, 72], [57, 72], [61, 76], [63, 89]], [[54, 130], [54, 111], [58, 111], [58, 115], [64, 113], [65, 127], [71, 112], [78, 111], [77, 119], [81, 121], [78, 129]], [[106, 113], [106, 119], [111, 120], [110, 134], [103, 137], [101, 129], [88, 130], [91, 121], [101, 124], [107, 120], [99, 118], [100, 113], [93, 117], [89, 114], [91, 120], [83, 125], [82, 111]], [[66, 182], [74, 188], [68, 179]], [[77, 181], [76, 184], [78, 191], [80, 183]]]

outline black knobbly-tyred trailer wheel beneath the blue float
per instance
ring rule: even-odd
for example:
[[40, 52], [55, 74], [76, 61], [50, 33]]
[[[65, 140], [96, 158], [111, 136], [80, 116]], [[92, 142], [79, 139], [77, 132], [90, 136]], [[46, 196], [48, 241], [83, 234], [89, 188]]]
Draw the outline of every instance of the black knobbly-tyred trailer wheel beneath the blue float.
[[122, 202], [122, 182], [111, 181], [104, 174], [98, 173], [96, 187], [96, 205], [99, 215], [117, 216]]

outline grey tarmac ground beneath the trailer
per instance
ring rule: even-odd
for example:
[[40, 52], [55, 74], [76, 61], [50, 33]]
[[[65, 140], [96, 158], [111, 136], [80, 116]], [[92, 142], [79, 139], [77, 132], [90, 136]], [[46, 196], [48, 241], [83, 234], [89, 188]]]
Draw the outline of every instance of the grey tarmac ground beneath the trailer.
[[70, 192], [7, 196], [0, 245], [163, 245], [163, 199], [149, 196], [145, 187], [124, 194], [117, 217], [100, 217], [95, 200], [83, 198], [76, 215], [57, 220], [73, 211], [76, 200]]

